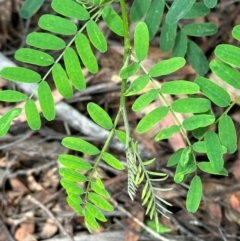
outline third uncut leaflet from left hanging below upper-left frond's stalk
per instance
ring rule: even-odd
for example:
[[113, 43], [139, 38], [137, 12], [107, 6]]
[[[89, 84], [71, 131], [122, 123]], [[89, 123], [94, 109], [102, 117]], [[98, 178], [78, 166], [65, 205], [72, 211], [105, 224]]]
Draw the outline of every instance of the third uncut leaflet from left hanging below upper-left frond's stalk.
[[59, 63], [56, 63], [53, 66], [52, 76], [59, 93], [66, 99], [71, 98], [73, 96], [72, 86], [68, 80], [65, 70]]

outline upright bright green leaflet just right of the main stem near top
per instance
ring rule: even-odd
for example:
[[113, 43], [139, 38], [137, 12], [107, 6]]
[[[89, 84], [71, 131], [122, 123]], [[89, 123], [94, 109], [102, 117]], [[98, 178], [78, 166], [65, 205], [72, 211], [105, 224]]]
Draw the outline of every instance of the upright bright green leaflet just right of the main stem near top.
[[134, 49], [136, 57], [139, 61], [143, 61], [147, 57], [149, 48], [149, 32], [148, 26], [144, 22], [137, 24], [134, 32]]

